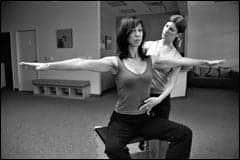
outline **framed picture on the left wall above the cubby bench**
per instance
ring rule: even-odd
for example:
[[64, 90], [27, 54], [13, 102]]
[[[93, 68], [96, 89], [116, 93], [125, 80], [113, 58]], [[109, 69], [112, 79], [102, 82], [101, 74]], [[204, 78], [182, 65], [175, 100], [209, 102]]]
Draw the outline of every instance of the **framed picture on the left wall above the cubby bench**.
[[73, 48], [72, 29], [57, 30], [57, 48]]

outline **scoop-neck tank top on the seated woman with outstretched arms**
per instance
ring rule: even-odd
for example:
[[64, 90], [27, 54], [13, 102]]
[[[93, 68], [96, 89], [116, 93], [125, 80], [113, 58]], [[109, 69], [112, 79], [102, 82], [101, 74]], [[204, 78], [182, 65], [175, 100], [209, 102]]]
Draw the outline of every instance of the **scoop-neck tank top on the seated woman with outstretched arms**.
[[121, 114], [138, 115], [146, 110], [139, 110], [150, 96], [152, 82], [152, 61], [147, 58], [147, 67], [142, 74], [130, 71], [118, 58], [118, 72], [115, 75], [117, 103], [115, 111]]

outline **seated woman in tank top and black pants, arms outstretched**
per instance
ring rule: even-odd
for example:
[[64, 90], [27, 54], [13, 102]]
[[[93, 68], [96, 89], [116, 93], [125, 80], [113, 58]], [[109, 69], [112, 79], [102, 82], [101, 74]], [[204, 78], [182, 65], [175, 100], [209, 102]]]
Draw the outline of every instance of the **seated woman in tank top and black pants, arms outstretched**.
[[222, 60], [157, 59], [144, 54], [142, 45], [145, 30], [141, 20], [135, 17], [123, 18], [117, 35], [119, 56], [100, 59], [68, 59], [50, 63], [20, 62], [19, 65], [33, 66], [37, 70], [89, 70], [111, 71], [117, 85], [117, 103], [111, 115], [105, 153], [109, 158], [130, 159], [126, 149], [128, 142], [137, 136], [145, 139], [162, 139], [170, 142], [166, 158], [189, 158], [192, 130], [185, 125], [152, 119], [148, 108], [140, 109], [150, 96], [152, 67], [178, 67], [221, 63]]

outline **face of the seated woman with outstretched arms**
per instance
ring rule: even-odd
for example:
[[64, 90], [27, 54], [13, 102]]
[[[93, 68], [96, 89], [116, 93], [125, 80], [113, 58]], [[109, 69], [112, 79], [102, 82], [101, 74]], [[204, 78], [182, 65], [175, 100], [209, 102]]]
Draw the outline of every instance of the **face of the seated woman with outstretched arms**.
[[142, 43], [143, 38], [143, 28], [141, 24], [138, 24], [137, 27], [132, 29], [128, 37], [129, 45], [132, 47], [138, 47]]

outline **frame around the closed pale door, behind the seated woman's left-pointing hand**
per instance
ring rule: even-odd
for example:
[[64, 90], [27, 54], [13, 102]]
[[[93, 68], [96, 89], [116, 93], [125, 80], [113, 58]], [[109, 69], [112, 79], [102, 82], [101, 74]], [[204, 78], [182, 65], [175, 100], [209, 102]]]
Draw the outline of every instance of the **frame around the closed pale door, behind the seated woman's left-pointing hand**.
[[[32, 29], [21, 29], [21, 30], [17, 30], [16, 31], [16, 51], [17, 51], [17, 69], [18, 69], [18, 90], [21, 91], [22, 90], [22, 82], [21, 82], [21, 77], [22, 77], [22, 72], [21, 69], [18, 65], [18, 63], [20, 62], [20, 45], [19, 45], [19, 32], [26, 32], [26, 31], [35, 31], [35, 50], [36, 50], [36, 60], [37, 62], [39, 62], [39, 47], [38, 47], [38, 30], [37, 28], [32, 28]], [[39, 71], [37, 72], [37, 79], [40, 77], [40, 73]]]

